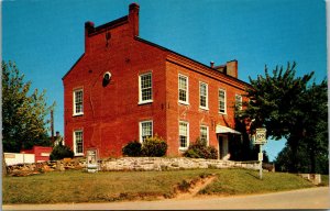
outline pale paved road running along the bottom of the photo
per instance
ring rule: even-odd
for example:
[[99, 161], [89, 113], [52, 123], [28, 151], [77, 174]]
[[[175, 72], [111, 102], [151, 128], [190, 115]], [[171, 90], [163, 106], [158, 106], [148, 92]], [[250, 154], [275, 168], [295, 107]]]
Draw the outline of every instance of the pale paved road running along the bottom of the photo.
[[112, 203], [20, 204], [3, 210], [211, 210], [211, 209], [330, 209], [330, 191], [326, 188], [188, 200], [135, 201]]

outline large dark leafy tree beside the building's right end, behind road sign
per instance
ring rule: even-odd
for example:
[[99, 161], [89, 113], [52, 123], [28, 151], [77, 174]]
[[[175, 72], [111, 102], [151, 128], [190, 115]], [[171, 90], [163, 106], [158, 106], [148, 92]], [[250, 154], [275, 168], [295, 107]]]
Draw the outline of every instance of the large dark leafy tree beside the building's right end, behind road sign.
[[[305, 159], [316, 155], [320, 148], [324, 149], [328, 131], [328, 122], [323, 121], [328, 115], [327, 82], [308, 86], [314, 73], [296, 77], [295, 68], [295, 63], [288, 64], [286, 70], [276, 67], [271, 76], [265, 67], [265, 77], [258, 76], [255, 80], [250, 77], [251, 88], [246, 90], [250, 101], [245, 103], [246, 110], [238, 113], [240, 119], [254, 120], [252, 132], [265, 126], [267, 136], [287, 140], [288, 152], [285, 155], [289, 156], [289, 171], [299, 169], [300, 148], [306, 148]], [[315, 158], [311, 156], [311, 159]], [[309, 167], [309, 170], [314, 169]]]

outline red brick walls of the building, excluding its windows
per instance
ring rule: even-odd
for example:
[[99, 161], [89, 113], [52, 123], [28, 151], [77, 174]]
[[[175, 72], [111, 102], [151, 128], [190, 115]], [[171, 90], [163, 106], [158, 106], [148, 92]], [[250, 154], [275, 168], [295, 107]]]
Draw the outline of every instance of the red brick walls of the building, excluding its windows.
[[[121, 148], [139, 140], [139, 122], [153, 121], [153, 133], [168, 143], [167, 154], [180, 155], [178, 122], [189, 122], [190, 143], [199, 126], [209, 126], [210, 145], [218, 147], [216, 125], [234, 126], [233, 101], [245, 84], [206, 67], [139, 35], [139, 5], [128, 16], [95, 27], [85, 25], [85, 54], [63, 78], [65, 143], [74, 147], [75, 130], [84, 132], [84, 152], [98, 148], [100, 157], [121, 156]], [[237, 68], [237, 63], [233, 65]], [[105, 73], [112, 77], [103, 86]], [[139, 104], [139, 75], [152, 73], [153, 102]], [[178, 104], [178, 74], [189, 77], [189, 106]], [[237, 74], [237, 69], [233, 70]], [[199, 109], [199, 81], [209, 85], [209, 110]], [[218, 89], [227, 90], [227, 114], [218, 113]], [[73, 92], [84, 89], [84, 115], [73, 116]]]

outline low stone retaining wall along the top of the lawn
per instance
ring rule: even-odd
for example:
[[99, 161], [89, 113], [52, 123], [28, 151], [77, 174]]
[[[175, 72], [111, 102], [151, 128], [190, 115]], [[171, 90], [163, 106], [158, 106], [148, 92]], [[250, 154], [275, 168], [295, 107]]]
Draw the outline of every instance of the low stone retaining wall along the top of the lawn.
[[[219, 159], [193, 159], [186, 157], [122, 157], [109, 158], [98, 162], [98, 170], [177, 170], [197, 168], [249, 168], [258, 169], [257, 162], [230, 162]], [[57, 162], [44, 162], [34, 164], [20, 164], [8, 166], [8, 174], [11, 176], [26, 176], [43, 171], [86, 169], [85, 158], [64, 159]]]

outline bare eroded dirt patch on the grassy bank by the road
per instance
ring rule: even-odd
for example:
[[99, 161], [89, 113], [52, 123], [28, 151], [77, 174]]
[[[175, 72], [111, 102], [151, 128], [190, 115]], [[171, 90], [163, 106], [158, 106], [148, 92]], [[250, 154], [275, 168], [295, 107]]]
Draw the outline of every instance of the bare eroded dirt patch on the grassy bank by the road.
[[217, 178], [216, 175], [209, 175], [194, 179], [191, 181], [183, 180], [175, 187], [175, 199], [189, 199], [195, 197], [200, 190], [205, 189]]

